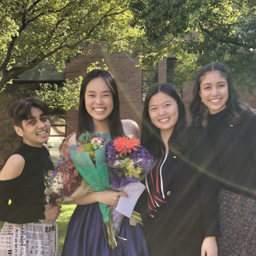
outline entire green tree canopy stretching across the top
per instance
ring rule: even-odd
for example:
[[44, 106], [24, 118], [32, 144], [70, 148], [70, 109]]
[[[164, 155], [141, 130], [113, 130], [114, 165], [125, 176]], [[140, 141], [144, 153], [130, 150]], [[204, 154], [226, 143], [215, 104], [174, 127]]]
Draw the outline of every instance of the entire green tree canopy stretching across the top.
[[241, 90], [255, 87], [255, 0], [2, 0], [0, 9], [0, 91], [42, 61], [61, 69], [89, 44], [133, 49], [145, 67], [176, 57], [177, 85], [222, 61]]

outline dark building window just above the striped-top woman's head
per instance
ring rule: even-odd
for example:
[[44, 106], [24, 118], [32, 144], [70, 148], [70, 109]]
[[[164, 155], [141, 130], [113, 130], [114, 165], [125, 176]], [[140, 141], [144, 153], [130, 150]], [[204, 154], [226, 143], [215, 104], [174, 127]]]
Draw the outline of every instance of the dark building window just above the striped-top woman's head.
[[158, 83], [158, 67], [157, 65], [154, 67], [148, 67], [147, 69], [143, 69], [143, 102], [145, 101], [145, 97], [148, 93], [148, 90], [154, 85]]

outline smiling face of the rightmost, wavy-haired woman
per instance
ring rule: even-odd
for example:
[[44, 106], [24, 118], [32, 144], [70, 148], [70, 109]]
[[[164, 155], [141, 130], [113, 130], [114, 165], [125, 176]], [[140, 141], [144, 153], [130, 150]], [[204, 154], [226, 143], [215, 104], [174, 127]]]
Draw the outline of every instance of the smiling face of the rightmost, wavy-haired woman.
[[201, 77], [199, 96], [211, 114], [222, 111], [229, 98], [227, 79], [218, 70], [207, 72]]

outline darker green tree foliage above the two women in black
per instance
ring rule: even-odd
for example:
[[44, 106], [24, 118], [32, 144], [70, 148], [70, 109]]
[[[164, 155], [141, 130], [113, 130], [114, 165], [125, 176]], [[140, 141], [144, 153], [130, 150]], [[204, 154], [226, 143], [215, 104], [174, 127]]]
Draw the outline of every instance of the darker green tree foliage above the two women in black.
[[132, 7], [146, 34], [137, 41], [144, 65], [172, 55], [175, 83], [183, 84], [202, 65], [221, 61], [239, 89], [255, 88], [255, 0], [142, 0]]

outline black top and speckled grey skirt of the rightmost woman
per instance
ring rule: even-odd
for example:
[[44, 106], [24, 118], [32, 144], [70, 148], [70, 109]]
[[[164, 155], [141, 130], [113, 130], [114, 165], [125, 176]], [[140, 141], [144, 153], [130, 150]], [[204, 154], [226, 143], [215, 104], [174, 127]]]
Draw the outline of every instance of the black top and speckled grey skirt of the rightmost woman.
[[256, 115], [247, 111], [238, 124], [228, 116], [212, 114], [207, 125], [220, 184], [218, 255], [256, 255]]

